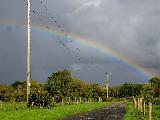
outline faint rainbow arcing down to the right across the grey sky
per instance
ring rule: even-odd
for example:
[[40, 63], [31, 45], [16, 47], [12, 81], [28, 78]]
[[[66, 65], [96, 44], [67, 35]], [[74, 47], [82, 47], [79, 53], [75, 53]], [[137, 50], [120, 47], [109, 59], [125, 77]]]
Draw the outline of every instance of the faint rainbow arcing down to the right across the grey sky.
[[[20, 26], [22, 28], [26, 28], [25, 27], [26, 25], [19, 25], [16, 22], [6, 21], [6, 20], [0, 21], [0, 25], [15, 25], [15, 26]], [[122, 63], [124, 63], [124, 64], [132, 67], [136, 71], [140, 72], [141, 74], [146, 76], [148, 79], [153, 76], [158, 76], [157, 74], [153, 73], [151, 70], [143, 68], [141, 65], [132, 61], [130, 58], [118, 53], [117, 51], [111, 49], [109, 46], [101, 44], [95, 40], [91, 40], [91, 39], [88, 39], [88, 38], [85, 38], [82, 36], [77, 36], [72, 33], [60, 32], [60, 31], [55, 30], [54, 28], [47, 29], [46, 25], [36, 25], [35, 24], [35, 25], [32, 25], [32, 29], [42, 31], [42, 32], [47, 32], [47, 33], [58, 35], [58, 36], [62, 36], [64, 38], [76, 41], [81, 45], [91, 47], [91, 48], [97, 49], [107, 55], [111, 55], [113, 58], [117, 59], [118, 61], [121, 61]]]

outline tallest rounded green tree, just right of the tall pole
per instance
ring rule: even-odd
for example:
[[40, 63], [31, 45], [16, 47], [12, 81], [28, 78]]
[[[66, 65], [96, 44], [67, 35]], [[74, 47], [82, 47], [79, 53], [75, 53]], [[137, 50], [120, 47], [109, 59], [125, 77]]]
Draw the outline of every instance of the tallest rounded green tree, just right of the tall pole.
[[52, 73], [48, 77], [45, 88], [57, 102], [60, 102], [65, 96], [69, 94], [71, 80], [72, 77], [70, 71], [58, 71]]

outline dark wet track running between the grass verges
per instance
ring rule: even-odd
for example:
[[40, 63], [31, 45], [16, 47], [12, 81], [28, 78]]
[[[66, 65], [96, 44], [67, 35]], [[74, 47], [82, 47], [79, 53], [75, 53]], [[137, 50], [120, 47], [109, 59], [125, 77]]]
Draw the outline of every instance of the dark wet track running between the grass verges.
[[63, 120], [122, 120], [126, 112], [125, 108], [126, 105], [124, 103], [115, 103], [91, 112], [68, 116]]

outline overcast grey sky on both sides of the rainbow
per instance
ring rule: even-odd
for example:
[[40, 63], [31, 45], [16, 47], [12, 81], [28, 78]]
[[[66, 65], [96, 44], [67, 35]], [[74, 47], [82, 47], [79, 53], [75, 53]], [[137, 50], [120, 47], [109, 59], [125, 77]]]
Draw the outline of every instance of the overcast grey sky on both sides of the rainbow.
[[[103, 84], [104, 72], [112, 73], [110, 85], [148, 81], [150, 77], [109, 54], [44, 31], [52, 28], [62, 33], [63, 29], [69, 35], [93, 40], [160, 74], [159, 5], [159, 0], [32, 1], [32, 25], [46, 26], [43, 31], [32, 27], [32, 79], [45, 82], [49, 74], [69, 69], [74, 77], [92, 83]], [[26, 23], [24, 0], [1, 0], [0, 82], [3, 84], [26, 79]]]

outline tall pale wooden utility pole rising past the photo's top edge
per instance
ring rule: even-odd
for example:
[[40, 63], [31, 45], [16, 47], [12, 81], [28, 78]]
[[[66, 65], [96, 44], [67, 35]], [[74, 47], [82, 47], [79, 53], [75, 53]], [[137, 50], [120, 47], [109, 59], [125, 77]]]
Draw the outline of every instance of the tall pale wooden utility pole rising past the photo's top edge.
[[28, 40], [27, 40], [27, 103], [30, 95], [31, 80], [31, 0], [28, 0]]

